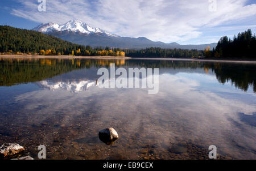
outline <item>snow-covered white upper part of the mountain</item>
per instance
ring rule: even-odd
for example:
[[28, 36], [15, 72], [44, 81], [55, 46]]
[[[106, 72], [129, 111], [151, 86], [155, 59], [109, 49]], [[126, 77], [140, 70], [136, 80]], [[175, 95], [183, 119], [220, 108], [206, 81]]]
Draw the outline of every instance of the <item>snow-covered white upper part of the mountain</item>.
[[90, 25], [86, 23], [82, 23], [80, 20], [70, 20], [69, 22], [61, 25], [56, 23], [40, 24], [38, 25], [38, 27], [32, 30], [43, 32], [43, 33], [52, 32], [52, 31], [71, 31], [71, 32], [86, 33], [88, 35], [93, 33], [102, 33], [106, 36], [116, 37], [116, 35], [106, 32], [103, 29], [90, 27]]

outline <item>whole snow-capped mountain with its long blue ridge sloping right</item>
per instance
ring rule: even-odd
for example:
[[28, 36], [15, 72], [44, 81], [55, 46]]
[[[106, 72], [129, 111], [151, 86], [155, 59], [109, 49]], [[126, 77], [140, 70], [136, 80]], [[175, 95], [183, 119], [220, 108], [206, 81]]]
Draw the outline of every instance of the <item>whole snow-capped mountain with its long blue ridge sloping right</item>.
[[180, 45], [176, 42], [166, 44], [160, 41], [151, 41], [146, 37], [121, 37], [112, 33], [106, 32], [100, 28], [93, 28], [86, 23], [79, 20], [71, 20], [64, 24], [47, 23], [40, 24], [38, 27], [32, 29], [33, 31], [43, 32], [47, 35], [52, 35], [63, 40], [73, 42], [80, 45], [94, 46], [109, 46], [112, 48], [128, 48], [141, 49], [148, 47], [159, 47], [166, 49], [197, 49], [204, 50], [207, 46], [210, 49], [216, 47], [216, 43], [204, 45]]

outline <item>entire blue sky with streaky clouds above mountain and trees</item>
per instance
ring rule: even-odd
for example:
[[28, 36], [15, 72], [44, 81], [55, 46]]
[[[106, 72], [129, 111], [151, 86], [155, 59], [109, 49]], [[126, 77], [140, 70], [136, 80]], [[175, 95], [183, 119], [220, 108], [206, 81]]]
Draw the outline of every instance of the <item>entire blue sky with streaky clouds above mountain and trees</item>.
[[[38, 6], [46, 2], [46, 11]], [[123, 37], [207, 44], [256, 32], [256, 0], [1, 0], [0, 25], [32, 29], [76, 19]]]

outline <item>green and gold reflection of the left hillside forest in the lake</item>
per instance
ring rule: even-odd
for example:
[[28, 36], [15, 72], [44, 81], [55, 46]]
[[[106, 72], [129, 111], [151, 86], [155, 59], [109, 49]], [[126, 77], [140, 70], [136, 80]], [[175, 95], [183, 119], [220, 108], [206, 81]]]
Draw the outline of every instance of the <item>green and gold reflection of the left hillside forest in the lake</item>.
[[19, 83], [37, 82], [43, 79], [70, 72], [72, 70], [94, 67], [110, 67], [125, 64], [125, 59], [4, 59], [0, 58], [0, 86], [13, 86]]

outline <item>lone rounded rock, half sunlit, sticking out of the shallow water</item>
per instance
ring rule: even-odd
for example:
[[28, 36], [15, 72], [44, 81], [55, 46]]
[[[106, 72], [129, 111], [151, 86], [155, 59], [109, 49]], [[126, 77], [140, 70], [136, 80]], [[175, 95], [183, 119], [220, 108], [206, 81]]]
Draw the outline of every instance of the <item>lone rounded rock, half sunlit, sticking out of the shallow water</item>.
[[113, 127], [108, 127], [107, 129], [98, 132], [98, 137], [102, 142], [111, 145], [118, 139], [118, 134]]

